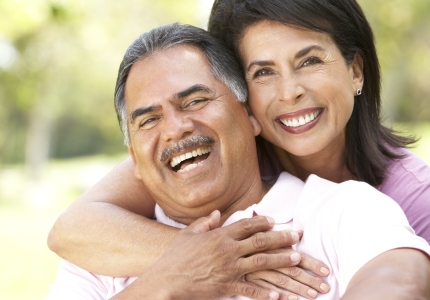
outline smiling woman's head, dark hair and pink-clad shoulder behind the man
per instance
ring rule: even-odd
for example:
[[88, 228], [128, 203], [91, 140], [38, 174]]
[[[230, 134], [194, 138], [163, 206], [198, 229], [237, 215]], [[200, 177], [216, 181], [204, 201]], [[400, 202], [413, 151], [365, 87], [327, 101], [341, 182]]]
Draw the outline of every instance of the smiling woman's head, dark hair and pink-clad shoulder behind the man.
[[[292, 28], [325, 33], [330, 40], [293, 61], [304, 41], [286, 40]], [[422, 211], [430, 205], [429, 166], [405, 149], [412, 139], [380, 123], [379, 62], [372, 30], [355, 1], [215, 1], [209, 31], [242, 62], [251, 110], [283, 170], [302, 180], [317, 174], [334, 182], [365, 181], [393, 198], [430, 242]], [[339, 59], [351, 73], [346, 95], [339, 88], [345, 85], [342, 75], [333, 73], [342, 70]], [[314, 109], [300, 111], [309, 106]], [[315, 120], [292, 124], [307, 112]]]

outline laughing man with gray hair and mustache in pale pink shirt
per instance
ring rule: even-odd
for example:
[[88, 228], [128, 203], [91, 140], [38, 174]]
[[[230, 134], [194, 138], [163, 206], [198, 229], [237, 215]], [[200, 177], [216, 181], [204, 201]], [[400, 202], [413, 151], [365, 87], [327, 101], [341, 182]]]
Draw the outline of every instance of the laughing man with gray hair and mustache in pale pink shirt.
[[[428, 255], [430, 247], [413, 234], [389, 198], [363, 183], [334, 184], [316, 176], [306, 184], [286, 173], [273, 187], [261, 181], [254, 142], [260, 127], [243, 104], [243, 82], [227, 79], [237, 66], [234, 60], [219, 59], [223, 51], [201, 29], [156, 28], [127, 51], [115, 101], [136, 176], [157, 202], [157, 220], [183, 228], [215, 212], [181, 232], [159, 262], [138, 279], [94, 275], [63, 263], [48, 299], [232, 296], [205, 284], [206, 278], [222, 272], [194, 261], [187, 243], [218, 223], [255, 215], [272, 216], [275, 230], [304, 230], [297, 249], [332, 269], [331, 290], [322, 296], [326, 299], [428, 297], [430, 263], [424, 253]], [[360, 219], [364, 214], [365, 223]], [[213, 249], [215, 256], [223, 252]], [[274, 265], [264, 254], [252, 259], [265, 268]], [[184, 276], [185, 268], [192, 276]], [[262, 296], [277, 299], [279, 294]]]

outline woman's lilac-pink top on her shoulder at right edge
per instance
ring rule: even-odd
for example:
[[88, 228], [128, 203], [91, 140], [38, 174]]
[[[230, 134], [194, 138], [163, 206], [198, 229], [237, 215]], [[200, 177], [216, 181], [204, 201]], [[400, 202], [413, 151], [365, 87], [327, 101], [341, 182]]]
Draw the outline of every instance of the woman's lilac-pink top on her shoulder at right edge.
[[[269, 161], [259, 155], [263, 179], [276, 179], [282, 167], [269, 143], [265, 144]], [[430, 243], [430, 166], [411, 151], [401, 148], [396, 153], [405, 156], [391, 161], [385, 181], [377, 189], [394, 199], [403, 209], [415, 233]]]

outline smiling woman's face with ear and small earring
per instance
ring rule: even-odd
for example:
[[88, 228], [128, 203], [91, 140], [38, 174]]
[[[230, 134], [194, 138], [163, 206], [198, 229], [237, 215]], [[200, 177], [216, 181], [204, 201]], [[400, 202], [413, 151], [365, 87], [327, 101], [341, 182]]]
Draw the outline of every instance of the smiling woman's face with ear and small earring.
[[363, 83], [359, 55], [348, 65], [329, 35], [268, 21], [249, 27], [239, 49], [266, 140], [297, 156], [344, 147]]

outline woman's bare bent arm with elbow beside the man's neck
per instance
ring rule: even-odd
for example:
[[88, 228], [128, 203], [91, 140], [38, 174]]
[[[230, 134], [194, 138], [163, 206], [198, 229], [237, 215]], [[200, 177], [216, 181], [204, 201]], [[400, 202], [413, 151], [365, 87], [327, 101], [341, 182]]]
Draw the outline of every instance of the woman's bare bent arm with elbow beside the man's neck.
[[97, 274], [139, 275], [163, 255], [178, 232], [148, 219], [154, 206], [127, 158], [60, 215], [48, 246]]

